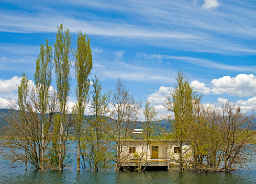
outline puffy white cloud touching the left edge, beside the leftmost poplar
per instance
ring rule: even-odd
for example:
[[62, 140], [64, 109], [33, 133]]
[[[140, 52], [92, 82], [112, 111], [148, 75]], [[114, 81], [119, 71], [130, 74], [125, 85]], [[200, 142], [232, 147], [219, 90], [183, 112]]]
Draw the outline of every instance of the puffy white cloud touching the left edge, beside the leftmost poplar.
[[21, 77], [14, 76], [11, 79], [0, 79], [0, 93], [13, 93], [20, 85]]

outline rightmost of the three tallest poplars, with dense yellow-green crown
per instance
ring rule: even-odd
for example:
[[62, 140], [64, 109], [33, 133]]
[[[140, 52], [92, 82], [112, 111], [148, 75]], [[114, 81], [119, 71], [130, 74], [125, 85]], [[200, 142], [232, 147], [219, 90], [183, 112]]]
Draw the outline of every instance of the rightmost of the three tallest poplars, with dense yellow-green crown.
[[88, 92], [90, 88], [90, 80], [88, 75], [91, 73], [93, 66], [92, 51], [90, 46], [90, 39], [86, 35], [78, 31], [78, 36], [76, 40], [76, 51], [74, 52], [74, 69], [76, 77], [76, 88], [75, 96], [77, 99], [76, 107], [76, 121], [75, 131], [76, 131], [76, 147], [77, 147], [77, 157], [76, 157], [76, 168], [80, 170], [80, 137], [81, 137], [81, 125], [84, 117], [84, 110], [88, 102]]

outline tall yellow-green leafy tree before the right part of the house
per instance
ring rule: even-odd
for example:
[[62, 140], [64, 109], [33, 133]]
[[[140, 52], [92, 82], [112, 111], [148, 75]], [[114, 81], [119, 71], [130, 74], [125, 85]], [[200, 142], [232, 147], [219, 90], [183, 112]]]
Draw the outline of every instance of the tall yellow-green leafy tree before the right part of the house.
[[166, 96], [165, 103], [165, 108], [174, 113], [174, 117], [168, 116], [168, 120], [173, 130], [172, 137], [177, 142], [177, 146], [180, 147], [179, 164], [181, 172], [184, 170], [183, 157], [185, 156], [182, 145], [190, 139], [194, 103], [201, 99], [201, 96], [198, 96], [188, 83], [188, 78], [185, 77], [183, 72], [177, 72], [175, 89], [169, 96]]

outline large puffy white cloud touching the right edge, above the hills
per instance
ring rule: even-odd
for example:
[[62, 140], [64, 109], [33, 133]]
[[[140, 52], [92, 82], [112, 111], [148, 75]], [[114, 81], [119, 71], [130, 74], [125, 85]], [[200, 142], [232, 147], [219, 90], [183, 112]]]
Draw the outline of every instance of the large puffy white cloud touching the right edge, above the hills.
[[256, 96], [256, 76], [253, 74], [239, 74], [236, 77], [224, 76], [213, 79], [213, 94], [228, 94], [231, 96]]

